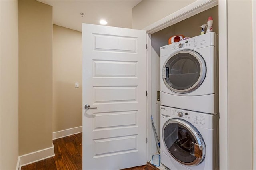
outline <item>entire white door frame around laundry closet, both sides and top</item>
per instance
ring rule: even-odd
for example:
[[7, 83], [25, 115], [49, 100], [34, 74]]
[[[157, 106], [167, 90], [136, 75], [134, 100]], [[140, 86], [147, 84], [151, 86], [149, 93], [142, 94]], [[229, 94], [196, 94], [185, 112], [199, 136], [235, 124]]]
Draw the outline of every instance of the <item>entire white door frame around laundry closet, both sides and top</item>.
[[[254, 6], [256, 3], [254, 3]], [[168, 26], [176, 24], [186, 18], [194, 16], [200, 12], [208, 10], [214, 6], [218, 5], [218, 16], [219, 16], [219, 112], [220, 117], [220, 169], [228, 169], [228, 42], [227, 42], [227, 0], [197, 0], [188, 6], [162, 18], [161, 20], [147, 26], [143, 30], [146, 30], [147, 35], [147, 91], [151, 92], [151, 34], [158, 32]], [[221, 17], [220, 17], [221, 16]], [[256, 12], [254, 12], [256, 18]], [[255, 27], [256, 28], [256, 27]], [[255, 36], [255, 35], [254, 35]], [[254, 42], [255, 43], [255, 42]], [[256, 50], [254, 50], [254, 57], [256, 57]], [[254, 65], [256, 65], [254, 63]], [[255, 71], [254, 71], [255, 72]], [[256, 75], [254, 75], [255, 77]], [[256, 83], [254, 83], [254, 89], [256, 91]], [[256, 98], [256, 92], [254, 91], [254, 99]], [[147, 138], [148, 138], [148, 160], [151, 159], [152, 149], [151, 149], [151, 138], [152, 138], [152, 125], [151, 125], [151, 94], [148, 93], [147, 100]], [[256, 121], [256, 109], [254, 110], [254, 122]], [[255, 127], [254, 127], [255, 129]], [[256, 132], [254, 132], [256, 136]], [[254, 138], [255, 141], [255, 138]], [[255, 141], [256, 142], [256, 141]], [[254, 142], [254, 143], [255, 143]], [[254, 156], [255, 156], [254, 147]], [[254, 162], [255, 163], [255, 162]], [[254, 165], [255, 169], [255, 165]]]

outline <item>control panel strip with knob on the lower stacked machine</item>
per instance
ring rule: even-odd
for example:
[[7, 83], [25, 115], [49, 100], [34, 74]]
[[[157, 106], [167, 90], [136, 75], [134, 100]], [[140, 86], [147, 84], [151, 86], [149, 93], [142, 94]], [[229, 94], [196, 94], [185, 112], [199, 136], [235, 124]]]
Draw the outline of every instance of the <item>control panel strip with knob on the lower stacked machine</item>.
[[213, 128], [214, 119], [216, 115], [208, 113], [199, 113], [194, 111], [187, 111], [172, 107], [160, 106], [160, 114], [163, 117], [180, 118], [190, 122], [194, 126]]

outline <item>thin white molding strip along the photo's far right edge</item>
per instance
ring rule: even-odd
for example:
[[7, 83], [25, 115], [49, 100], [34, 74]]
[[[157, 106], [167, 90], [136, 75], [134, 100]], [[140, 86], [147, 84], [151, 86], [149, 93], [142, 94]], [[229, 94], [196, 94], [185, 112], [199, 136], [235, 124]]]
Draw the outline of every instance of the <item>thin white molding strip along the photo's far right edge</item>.
[[256, 1], [252, 0], [252, 61], [253, 61], [253, 170], [256, 170]]

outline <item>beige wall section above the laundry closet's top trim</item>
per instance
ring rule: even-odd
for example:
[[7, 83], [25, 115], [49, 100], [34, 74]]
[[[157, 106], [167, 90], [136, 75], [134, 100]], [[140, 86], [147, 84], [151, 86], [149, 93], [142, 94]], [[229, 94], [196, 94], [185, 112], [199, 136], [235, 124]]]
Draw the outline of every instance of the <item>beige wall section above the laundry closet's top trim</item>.
[[143, 29], [194, 1], [143, 0], [132, 9], [132, 28]]

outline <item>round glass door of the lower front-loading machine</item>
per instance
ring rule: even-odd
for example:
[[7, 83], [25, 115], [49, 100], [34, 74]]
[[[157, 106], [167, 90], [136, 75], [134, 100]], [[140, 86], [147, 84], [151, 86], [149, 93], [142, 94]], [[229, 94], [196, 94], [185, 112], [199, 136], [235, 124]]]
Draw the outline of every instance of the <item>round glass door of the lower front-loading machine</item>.
[[192, 124], [182, 119], [170, 119], [162, 132], [165, 147], [178, 162], [195, 166], [204, 160], [204, 140]]

